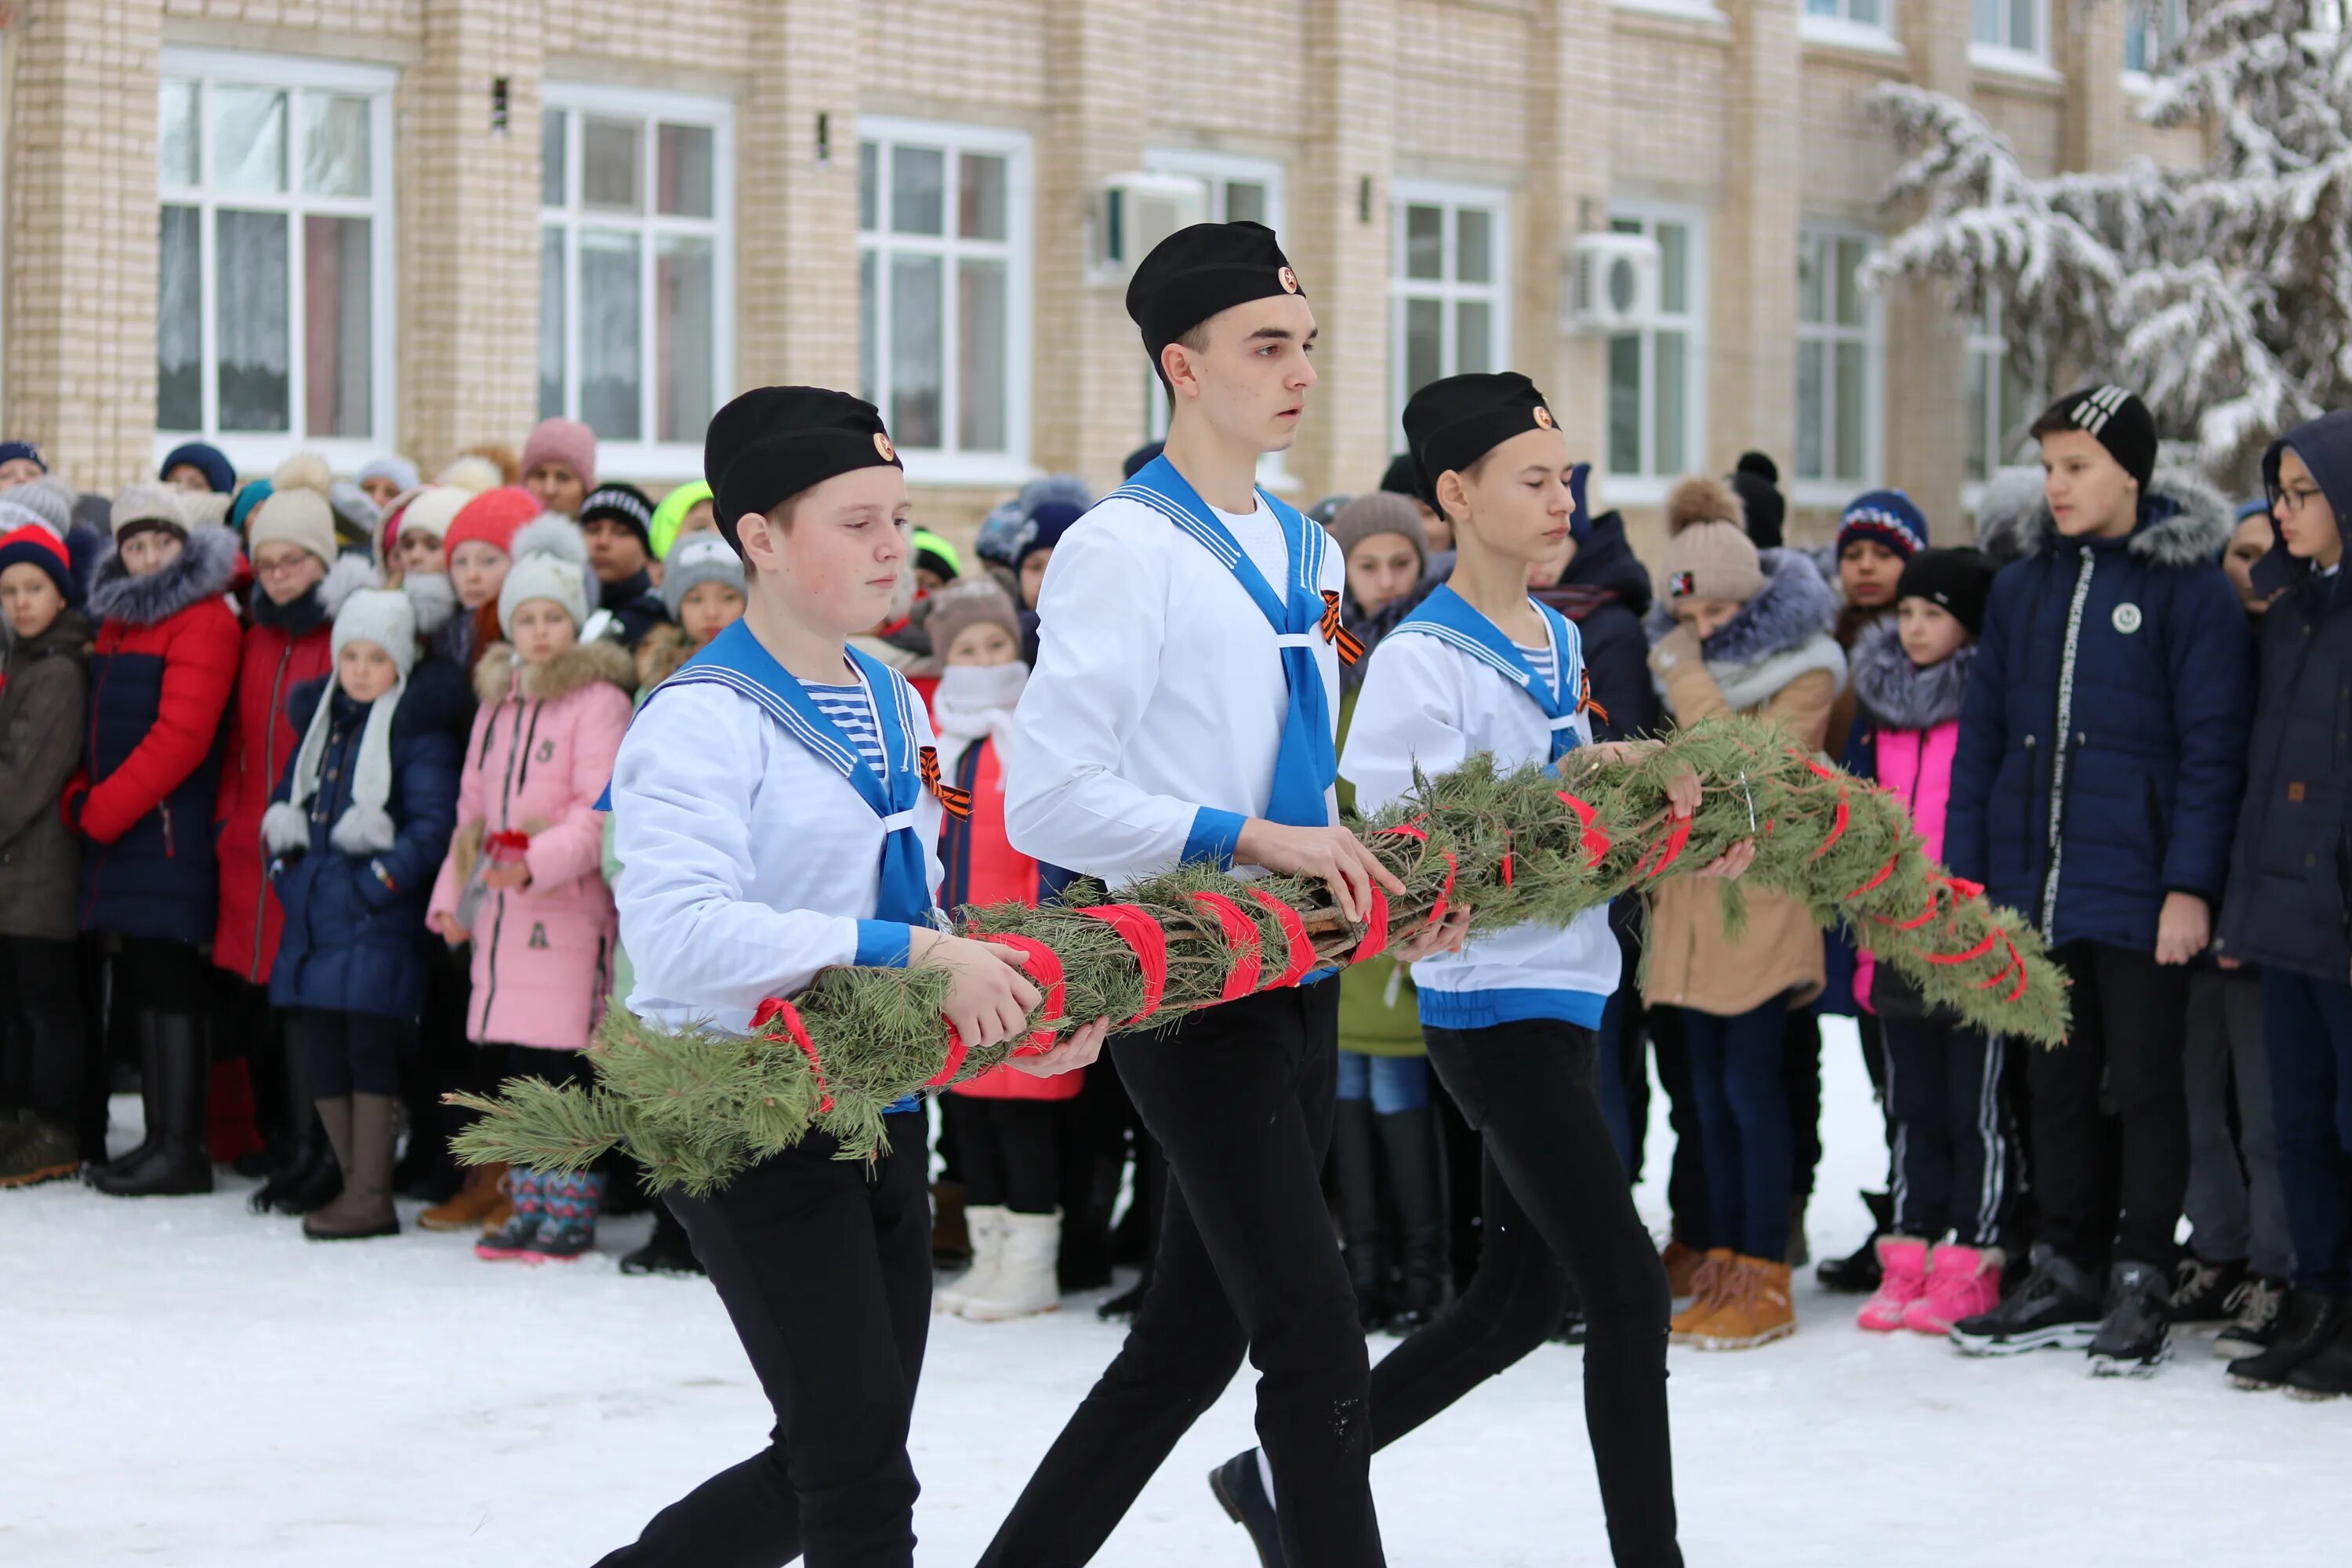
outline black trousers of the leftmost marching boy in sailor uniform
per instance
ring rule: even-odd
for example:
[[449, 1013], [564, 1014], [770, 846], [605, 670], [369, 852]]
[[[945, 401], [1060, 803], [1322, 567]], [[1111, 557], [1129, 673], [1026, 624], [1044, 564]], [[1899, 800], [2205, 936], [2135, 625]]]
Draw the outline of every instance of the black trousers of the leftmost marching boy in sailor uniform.
[[769, 1446], [654, 1514], [600, 1568], [908, 1568], [906, 1455], [931, 1326], [924, 1117], [887, 1119], [891, 1152], [835, 1159], [809, 1133], [708, 1199], [670, 1190], [743, 1354], [776, 1410]]

